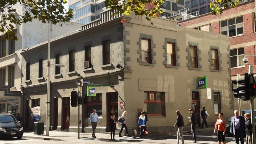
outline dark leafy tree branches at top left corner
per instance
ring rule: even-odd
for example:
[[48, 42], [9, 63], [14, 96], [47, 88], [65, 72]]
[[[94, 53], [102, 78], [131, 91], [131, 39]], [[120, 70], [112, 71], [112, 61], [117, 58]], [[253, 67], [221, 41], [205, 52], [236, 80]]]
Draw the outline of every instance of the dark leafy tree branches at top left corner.
[[72, 9], [64, 11], [66, 3], [66, 0], [0, 0], [0, 32], [6, 34], [6, 39], [17, 40], [12, 32], [15, 24], [31, 22], [34, 18], [43, 23], [69, 22], [73, 15]]

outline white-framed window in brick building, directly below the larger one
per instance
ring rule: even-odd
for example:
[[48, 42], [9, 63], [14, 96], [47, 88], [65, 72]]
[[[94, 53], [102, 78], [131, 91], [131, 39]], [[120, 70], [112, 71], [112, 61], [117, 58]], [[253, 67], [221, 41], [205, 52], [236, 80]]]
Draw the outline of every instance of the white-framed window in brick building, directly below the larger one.
[[231, 68], [245, 65], [245, 63], [243, 63], [244, 57], [245, 57], [245, 49], [244, 48], [237, 48], [237, 49], [230, 50]]

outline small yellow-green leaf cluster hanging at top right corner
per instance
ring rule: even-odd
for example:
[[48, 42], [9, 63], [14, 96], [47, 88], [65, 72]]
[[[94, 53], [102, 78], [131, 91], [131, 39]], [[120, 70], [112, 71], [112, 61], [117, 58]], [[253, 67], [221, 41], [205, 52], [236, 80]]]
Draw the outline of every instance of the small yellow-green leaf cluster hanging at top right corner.
[[223, 9], [228, 7], [236, 7], [242, 0], [211, 0], [210, 8], [212, 9], [212, 14], [217, 15], [217, 13], [222, 14]]

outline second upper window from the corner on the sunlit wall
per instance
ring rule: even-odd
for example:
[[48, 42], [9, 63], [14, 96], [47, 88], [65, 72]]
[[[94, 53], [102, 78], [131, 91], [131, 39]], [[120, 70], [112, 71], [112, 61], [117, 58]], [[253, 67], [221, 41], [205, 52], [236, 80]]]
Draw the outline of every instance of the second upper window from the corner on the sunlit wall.
[[167, 65], [175, 66], [175, 44], [171, 42], [167, 42], [166, 52], [167, 52]]

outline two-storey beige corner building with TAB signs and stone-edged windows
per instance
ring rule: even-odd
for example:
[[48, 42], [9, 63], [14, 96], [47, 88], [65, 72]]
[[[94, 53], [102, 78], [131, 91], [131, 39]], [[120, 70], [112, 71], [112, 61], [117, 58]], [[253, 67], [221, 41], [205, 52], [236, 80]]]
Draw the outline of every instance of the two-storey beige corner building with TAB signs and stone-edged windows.
[[[199, 117], [202, 107], [206, 107], [212, 125], [218, 113], [224, 113], [225, 119], [233, 115], [227, 36], [177, 26], [168, 19], [153, 19], [152, 25], [145, 17], [112, 17], [111, 13], [101, 13], [99, 20], [82, 26], [82, 31], [51, 40], [51, 63], [65, 65], [50, 69], [52, 129], [77, 131], [78, 108], [71, 107], [70, 93], [77, 90], [78, 74], [91, 84], [82, 86], [86, 103], [80, 114], [85, 132], [91, 131], [88, 118], [92, 109], [100, 117], [97, 129], [101, 133], [108, 131], [111, 114], [121, 116], [127, 111], [132, 134], [138, 129], [142, 107], [148, 113], [147, 127], [152, 132], [174, 129], [176, 110], [184, 116], [185, 127], [189, 127], [189, 108], [195, 109]], [[120, 18], [127, 22], [121, 24]], [[21, 55], [27, 103], [23, 110], [40, 107], [39, 122], [45, 122], [47, 68], [39, 63], [47, 61], [47, 42]], [[198, 84], [206, 83], [198, 82], [198, 77], [207, 77], [208, 92], [198, 89]], [[96, 96], [87, 96], [87, 86], [97, 84], [102, 86], [96, 87]], [[35, 122], [30, 113], [24, 114], [28, 127]]]

